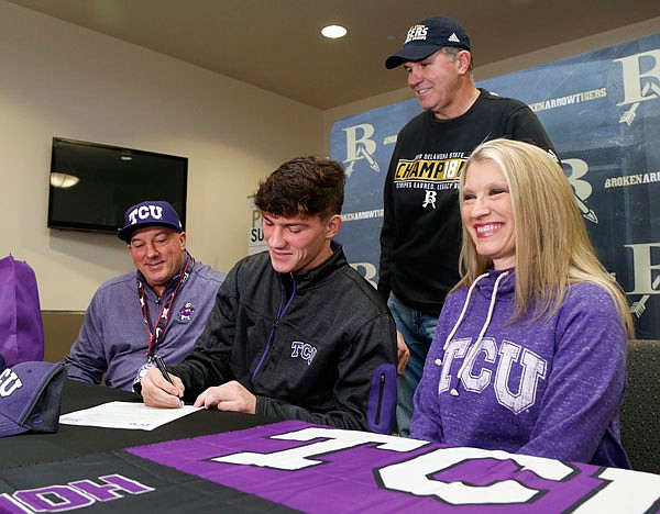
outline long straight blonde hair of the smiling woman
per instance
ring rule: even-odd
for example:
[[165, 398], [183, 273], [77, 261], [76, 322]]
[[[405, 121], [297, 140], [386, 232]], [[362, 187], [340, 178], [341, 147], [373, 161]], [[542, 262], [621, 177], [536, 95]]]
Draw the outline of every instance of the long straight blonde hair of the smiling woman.
[[[591, 282], [612, 297], [622, 321], [634, 337], [634, 325], [623, 290], [598, 260], [573, 191], [561, 166], [541, 148], [509, 139], [477, 146], [472, 163], [494, 163], [509, 187], [516, 237], [516, 309], [512, 321], [534, 309], [535, 320], [552, 315], [561, 306], [571, 283]], [[461, 204], [463, 202], [460, 194]], [[493, 266], [479, 255], [463, 225], [460, 257], [461, 280], [454, 289], [470, 286]]]

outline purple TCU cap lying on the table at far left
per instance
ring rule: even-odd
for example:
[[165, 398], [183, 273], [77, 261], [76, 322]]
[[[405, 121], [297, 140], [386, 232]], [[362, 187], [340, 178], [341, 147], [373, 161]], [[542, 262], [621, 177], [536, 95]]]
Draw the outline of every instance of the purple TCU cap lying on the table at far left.
[[66, 368], [19, 362], [0, 372], [0, 437], [23, 432], [57, 432]]

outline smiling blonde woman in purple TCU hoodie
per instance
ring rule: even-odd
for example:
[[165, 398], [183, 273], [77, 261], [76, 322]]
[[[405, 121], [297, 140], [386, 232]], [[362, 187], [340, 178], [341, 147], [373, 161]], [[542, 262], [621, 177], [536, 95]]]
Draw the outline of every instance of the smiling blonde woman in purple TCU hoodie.
[[632, 321], [561, 167], [494, 139], [460, 188], [462, 279], [438, 321], [411, 437], [629, 468], [619, 409]]

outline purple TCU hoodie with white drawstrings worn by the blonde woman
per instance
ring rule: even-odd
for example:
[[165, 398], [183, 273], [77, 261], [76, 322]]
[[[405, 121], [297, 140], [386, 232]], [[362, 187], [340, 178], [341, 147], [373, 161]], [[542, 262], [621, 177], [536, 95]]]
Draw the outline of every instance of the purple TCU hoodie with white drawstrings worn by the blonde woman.
[[627, 334], [600, 286], [572, 284], [559, 311], [508, 323], [515, 272], [491, 270], [448, 297], [410, 436], [629, 468], [620, 443]]

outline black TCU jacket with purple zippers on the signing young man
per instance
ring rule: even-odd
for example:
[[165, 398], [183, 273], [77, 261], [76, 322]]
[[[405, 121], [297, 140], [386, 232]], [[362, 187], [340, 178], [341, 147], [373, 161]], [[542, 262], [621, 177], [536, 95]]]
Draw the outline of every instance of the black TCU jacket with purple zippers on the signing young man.
[[301, 275], [276, 272], [267, 252], [233, 267], [194, 351], [172, 367], [186, 400], [238, 380], [262, 416], [393, 431], [394, 321], [341, 246], [332, 249]]

